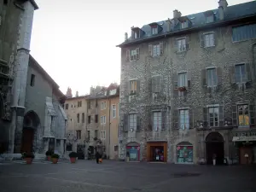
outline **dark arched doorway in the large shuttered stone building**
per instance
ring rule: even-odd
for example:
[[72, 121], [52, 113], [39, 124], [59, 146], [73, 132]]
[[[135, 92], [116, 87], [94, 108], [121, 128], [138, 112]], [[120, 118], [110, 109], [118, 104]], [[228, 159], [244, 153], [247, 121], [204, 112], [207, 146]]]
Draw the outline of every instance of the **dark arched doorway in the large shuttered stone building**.
[[212, 158], [216, 154], [216, 164], [224, 163], [224, 138], [219, 132], [211, 132], [206, 138], [207, 164], [212, 164]]

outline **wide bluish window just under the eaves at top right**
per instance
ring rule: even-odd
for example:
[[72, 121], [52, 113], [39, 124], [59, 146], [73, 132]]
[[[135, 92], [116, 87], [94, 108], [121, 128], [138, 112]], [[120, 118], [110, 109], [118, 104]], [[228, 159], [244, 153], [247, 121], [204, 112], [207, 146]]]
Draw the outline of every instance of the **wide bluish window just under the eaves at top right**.
[[232, 38], [233, 42], [256, 38], [256, 24], [233, 27]]

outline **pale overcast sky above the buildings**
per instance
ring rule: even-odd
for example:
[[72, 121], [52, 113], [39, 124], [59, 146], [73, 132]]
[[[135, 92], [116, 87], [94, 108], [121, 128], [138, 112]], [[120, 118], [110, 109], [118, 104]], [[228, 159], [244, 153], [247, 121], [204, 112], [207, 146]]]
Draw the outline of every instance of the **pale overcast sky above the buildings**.
[[[250, 0], [249, 0], [250, 1]], [[228, 0], [230, 5], [248, 0]], [[67, 87], [90, 93], [90, 86], [119, 83], [120, 48], [131, 26], [217, 9], [218, 0], [36, 0], [31, 55], [66, 94]]]

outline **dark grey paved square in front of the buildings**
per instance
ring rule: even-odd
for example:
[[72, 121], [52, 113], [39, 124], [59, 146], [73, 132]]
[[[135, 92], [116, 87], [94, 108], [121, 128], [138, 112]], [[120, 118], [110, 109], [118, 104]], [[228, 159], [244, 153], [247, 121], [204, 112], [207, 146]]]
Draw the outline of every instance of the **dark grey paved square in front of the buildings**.
[[189, 166], [105, 160], [0, 164], [1, 192], [255, 192], [255, 166]]

